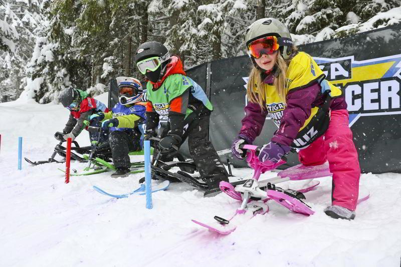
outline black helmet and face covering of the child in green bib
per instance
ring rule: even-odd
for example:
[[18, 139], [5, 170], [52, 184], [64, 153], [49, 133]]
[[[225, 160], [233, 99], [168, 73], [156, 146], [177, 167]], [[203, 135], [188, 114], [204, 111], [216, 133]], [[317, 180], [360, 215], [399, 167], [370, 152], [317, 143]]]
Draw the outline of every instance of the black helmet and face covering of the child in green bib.
[[135, 63], [149, 59], [152, 57], [158, 57], [160, 61], [160, 66], [151, 72], [146, 72], [144, 75], [151, 81], [157, 82], [162, 77], [162, 71], [167, 66], [170, 53], [168, 49], [161, 43], [151, 41], [140, 45], [135, 52]]

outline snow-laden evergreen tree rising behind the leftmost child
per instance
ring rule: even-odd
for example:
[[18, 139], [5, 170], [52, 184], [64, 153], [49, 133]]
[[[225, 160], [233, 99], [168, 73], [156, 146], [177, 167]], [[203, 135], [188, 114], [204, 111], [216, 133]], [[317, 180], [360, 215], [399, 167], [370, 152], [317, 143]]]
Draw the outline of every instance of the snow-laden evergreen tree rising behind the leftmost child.
[[39, 29], [26, 87], [39, 103], [57, 99], [66, 87], [86, 88], [90, 69], [77, 57], [72, 37], [81, 7], [74, 1], [48, 2], [44, 7], [48, 20]]

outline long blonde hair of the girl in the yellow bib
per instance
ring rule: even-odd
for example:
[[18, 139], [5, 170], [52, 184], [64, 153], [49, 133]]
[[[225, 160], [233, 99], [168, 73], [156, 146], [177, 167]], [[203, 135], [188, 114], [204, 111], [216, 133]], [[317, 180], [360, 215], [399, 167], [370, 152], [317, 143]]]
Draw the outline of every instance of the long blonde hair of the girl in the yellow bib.
[[[274, 87], [276, 88], [281, 101], [286, 104], [286, 84], [287, 84], [287, 69], [290, 65], [291, 59], [298, 52], [298, 48], [293, 45], [292, 47], [292, 56], [285, 60], [280, 53], [280, 50], [277, 52], [277, 60], [275, 66], [280, 71], [279, 75], [274, 79]], [[265, 86], [262, 80], [262, 70], [260, 68], [252, 67], [251, 73], [249, 74], [249, 81], [247, 86], [247, 97], [248, 101], [252, 103], [258, 103], [259, 106], [264, 110], [266, 107], [265, 100]]]

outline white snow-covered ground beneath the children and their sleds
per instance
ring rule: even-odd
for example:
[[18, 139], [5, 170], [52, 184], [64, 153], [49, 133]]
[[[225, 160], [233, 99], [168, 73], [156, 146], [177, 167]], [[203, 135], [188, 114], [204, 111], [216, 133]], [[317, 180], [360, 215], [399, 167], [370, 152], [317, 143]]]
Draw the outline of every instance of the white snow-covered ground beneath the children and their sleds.
[[[107, 103], [106, 96], [100, 97]], [[27, 103], [28, 102], [28, 103]], [[191, 219], [228, 217], [239, 203], [225, 194], [204, 198], [201, 191], [171, 184], [153, 194], [113, 199], [137, 187], [141, 174], [113, 179], [110, 173], [71, 177], [63, 164], [17, 170], [18, 136], [23, 157], [46, 160], [58, 143], [68, 111], [61, 105], [29, 101], [0, 104], [0, 265], [1, 266], [399, 266], [401, 258], [401, 175], [363, 174], [370, 199], [358, 205], [353, 221], [331, 219], [331, 179], [319, 179], [306, 193], [316, 213], [294, 214], [268, 202], [257, 215], [228, 236], [208, 231]], [[81, 145], [89, 143], [83, 132]], [[139, 157], [139, 156], [137, 156]], [[72, 162], [74, 168], [86, 164]], [[251, 176], [251, 169], [234, 169]], [[274, 172], [262, 177], [275, 176]], [[299, 182], [298, 182], [299, 183]], [[294, 185], [296, 186], [296, 185]]]

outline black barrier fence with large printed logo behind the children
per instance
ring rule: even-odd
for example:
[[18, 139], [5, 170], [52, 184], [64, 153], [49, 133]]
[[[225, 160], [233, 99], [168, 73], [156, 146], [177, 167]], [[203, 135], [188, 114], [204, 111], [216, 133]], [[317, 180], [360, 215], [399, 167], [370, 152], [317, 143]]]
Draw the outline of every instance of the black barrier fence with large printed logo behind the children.
[[[349, 125], [365, 173], [401, 172], [399, 44], [401, 25], [398, 24], [299, 47], [315, 59], [326, 79], [343, 91], [350, 113]], [[241, 128], [250, 70], [250, 59], [242, 56], [212, 61], [187, 71], [213, 104], [209, 138], [216, 150], [230, 149]], [[276, 129], [267, 118], [255, 144], [269, 142]], [[187, 153], [186, 149], [183, 148]], [[222, 156], [222, 160], [227, 157], [232, 159], [231, 153]], [[244, 161], [232, 159], [232, 162], [247, 166]], [[296, 154], [288, 156], [288, 166], [298, 163]]]

